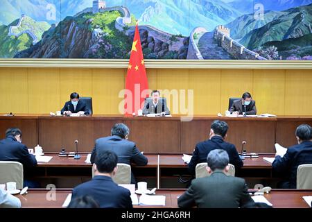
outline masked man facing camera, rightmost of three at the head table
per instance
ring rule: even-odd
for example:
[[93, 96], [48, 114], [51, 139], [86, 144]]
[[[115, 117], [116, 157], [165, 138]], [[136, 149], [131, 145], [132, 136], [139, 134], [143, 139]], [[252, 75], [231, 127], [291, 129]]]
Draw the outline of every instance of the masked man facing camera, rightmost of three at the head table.
[[257, 114], [256, 101], [252, 99], [249, 92], [245, 92], [243, 96], [241, 96], [241, 100], [234, 101], [232, 107], [229, 108], [229, 112], [237, 115], [243, 114], [245, 111], [246, 115]]

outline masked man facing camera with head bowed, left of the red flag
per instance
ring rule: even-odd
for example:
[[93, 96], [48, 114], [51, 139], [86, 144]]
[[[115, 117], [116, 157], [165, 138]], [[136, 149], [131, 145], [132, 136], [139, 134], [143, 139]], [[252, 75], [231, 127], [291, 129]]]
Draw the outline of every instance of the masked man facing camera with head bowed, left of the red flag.
[[87, 105], [85, 104], [85, 102], [79, 100], [79, 94], [77, 92], [73, 92], [70, 98], [71, 100], [66, 102], [64, 107], [62, 108], [62, 114], [70, 115], [72, 113], [78, 113], [80, 115], [89, 115]]

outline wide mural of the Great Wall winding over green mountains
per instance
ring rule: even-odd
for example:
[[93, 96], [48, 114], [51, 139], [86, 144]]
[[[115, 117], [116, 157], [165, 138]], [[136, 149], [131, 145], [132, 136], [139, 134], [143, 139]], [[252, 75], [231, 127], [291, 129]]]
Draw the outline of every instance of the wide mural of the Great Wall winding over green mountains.
[[312, 0], [1, 0], [0, 58], [312, 60]]

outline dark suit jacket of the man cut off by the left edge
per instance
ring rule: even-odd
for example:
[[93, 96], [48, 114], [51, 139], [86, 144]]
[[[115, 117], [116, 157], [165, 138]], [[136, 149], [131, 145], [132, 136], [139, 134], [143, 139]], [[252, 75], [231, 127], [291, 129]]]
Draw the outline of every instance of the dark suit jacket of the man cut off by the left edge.
[[35, 156], [28, 152], [27, 146], [17, 142], [13, 136], [0, 141], [0, 161], [20, 162], [24, 169], [37, 166]]

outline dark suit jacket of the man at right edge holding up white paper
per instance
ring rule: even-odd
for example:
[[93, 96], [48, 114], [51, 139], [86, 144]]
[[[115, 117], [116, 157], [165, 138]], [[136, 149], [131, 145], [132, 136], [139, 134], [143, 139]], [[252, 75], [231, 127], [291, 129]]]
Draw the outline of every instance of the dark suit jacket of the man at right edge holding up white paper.
[[289, 147], [284, 157], [279, 155], [275, 157], [272, 169], [279, 173], [279, 176], [284, 176], [288, 180], [288, 188], [295, 189], [297, 187], [297, 168], [301, 164], [312, 164], [311, 141]]

